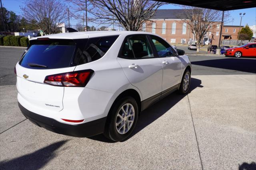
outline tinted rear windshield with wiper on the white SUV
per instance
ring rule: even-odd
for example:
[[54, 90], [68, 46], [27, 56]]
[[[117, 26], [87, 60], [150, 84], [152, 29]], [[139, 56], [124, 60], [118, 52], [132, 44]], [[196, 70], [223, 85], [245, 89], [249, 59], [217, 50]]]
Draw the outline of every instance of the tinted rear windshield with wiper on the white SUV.
[[36, 40], [24, 54], [19, 64], [26, 68], [51, 69], [70, 66], [76, 49], [72, 40]]

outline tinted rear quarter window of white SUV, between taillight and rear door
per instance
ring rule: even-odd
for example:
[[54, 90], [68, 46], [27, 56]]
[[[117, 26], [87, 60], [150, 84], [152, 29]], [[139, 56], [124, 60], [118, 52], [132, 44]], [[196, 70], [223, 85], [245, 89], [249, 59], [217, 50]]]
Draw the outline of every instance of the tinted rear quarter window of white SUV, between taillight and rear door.
[[108, 37], [89, 38], [78, 65], [90, 63], [103, 57], [110, 49], [112, 44], [116, 41], [118, 35]]

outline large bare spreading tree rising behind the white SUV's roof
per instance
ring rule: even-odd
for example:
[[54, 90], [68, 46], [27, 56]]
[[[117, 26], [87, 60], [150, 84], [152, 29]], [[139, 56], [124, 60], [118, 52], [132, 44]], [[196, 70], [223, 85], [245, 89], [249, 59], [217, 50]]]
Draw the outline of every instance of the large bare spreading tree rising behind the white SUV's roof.
[[[86, 0], [69, 0], [78, 5], [76, 12], [85, 11]], [[89, 20], [98, 24], [121, 25], [128, 31], [139, 31], [163, 2], [150, 0], [90, 0]]]

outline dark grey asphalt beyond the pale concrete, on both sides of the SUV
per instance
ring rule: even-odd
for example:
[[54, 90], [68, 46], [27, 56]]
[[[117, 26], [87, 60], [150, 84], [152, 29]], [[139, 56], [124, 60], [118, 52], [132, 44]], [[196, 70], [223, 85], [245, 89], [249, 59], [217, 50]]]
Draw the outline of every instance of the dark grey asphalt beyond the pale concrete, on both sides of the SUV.
[[[185, 48], [185, 47], [184, 47]], [[187, 48], [187, 47], [186, 47]], [[178, 47], [181, 49], [181, 47]], [[0, 47], [0, 86], [16, 84], [14, 66], [19, 61], [25, 49]], [[186, 53], [185, 53], [186, 54]], [[190, 55], [192, 75], [229, 75], [255, 74], [256, 58], [215, 57], [208, 55]]]

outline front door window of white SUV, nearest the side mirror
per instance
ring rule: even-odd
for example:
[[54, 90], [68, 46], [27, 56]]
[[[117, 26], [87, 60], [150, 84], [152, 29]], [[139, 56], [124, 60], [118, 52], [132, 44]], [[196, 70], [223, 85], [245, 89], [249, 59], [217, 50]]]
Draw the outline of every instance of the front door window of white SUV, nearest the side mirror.
[[166, 43], [160, 37], [150, 35], [151, 39], [156, 47], [156, 51], [158, 53], [158, 57], [172, 57], [175, 56], [172, 47]]

